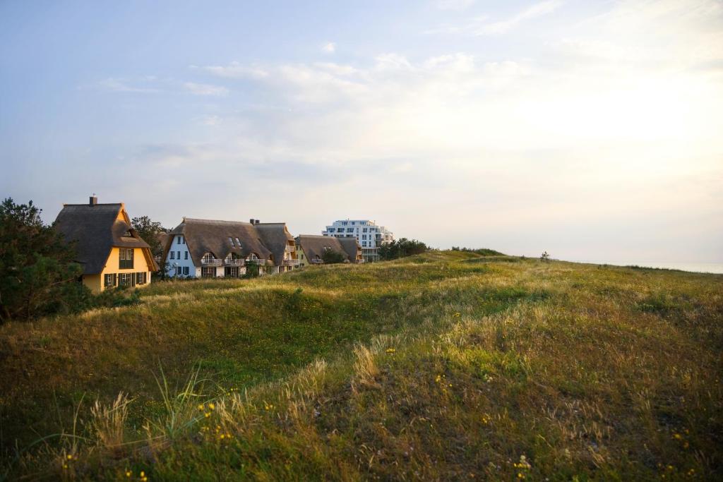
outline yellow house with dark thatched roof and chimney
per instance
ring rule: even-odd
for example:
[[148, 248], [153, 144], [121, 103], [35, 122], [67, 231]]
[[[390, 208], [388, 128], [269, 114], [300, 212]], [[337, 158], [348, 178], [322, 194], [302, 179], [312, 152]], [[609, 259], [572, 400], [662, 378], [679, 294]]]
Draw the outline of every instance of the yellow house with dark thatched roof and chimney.
[[54, 227], [75, 244], [82, 283], [93, 293], [115, 286], [145, 286], [158, 270], [150, 246], [131, 228], [125, 205], [63, 205]]

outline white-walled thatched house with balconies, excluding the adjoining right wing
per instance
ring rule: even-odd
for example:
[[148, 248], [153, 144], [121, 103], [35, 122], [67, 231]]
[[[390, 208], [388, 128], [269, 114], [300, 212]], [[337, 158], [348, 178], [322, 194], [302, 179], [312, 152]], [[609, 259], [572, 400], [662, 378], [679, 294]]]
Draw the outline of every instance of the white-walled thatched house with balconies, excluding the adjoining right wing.
[[275, 256], [252, 223], [184, 218], [163, 249], [171, 277], [241, 277], [249, 267], [273, 271]]

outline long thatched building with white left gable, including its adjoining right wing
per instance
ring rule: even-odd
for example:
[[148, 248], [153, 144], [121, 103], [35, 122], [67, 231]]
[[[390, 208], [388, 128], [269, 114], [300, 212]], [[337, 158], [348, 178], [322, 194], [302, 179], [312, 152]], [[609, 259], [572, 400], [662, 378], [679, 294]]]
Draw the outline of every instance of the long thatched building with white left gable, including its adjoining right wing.
[[296, 244], [285, 223], [184, 218], [163, 250], [171, 277], [241, 277], [251, 264], [259, 274], [298, 266]]

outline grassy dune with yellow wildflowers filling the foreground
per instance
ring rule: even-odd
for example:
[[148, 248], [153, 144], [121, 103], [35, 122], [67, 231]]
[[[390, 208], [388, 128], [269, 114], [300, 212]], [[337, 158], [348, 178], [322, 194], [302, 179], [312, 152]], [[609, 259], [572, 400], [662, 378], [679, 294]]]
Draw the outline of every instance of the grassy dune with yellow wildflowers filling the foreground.
[[720, 275], [447, 251], [157, 283], [0, 327], [0, 449], [48, 480], [712, 478], [722, 348]]

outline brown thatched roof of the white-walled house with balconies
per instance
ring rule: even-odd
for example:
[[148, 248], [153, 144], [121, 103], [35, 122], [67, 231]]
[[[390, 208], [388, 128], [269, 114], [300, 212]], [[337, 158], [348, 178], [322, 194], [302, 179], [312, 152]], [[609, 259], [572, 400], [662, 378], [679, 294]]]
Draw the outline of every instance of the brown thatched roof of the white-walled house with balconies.
[[[231, 253], [238, 254], [243, 258], [253, 253], [261, 259], [268, 259], [271, 254], [271, 251], [262, 243], [259, 232], [251, 223], [184, 218], [181, 224], [168, 233], [168, 241], [163, 249], [163, 259], [171, 249], [175, 236], [179, 234], [186, 238], [191, 259], [196, 266], [201, 265], [203, 255], [208, 252], [213, 253], [218, 259], [223, 259]], [[231, 246], [228, 238], [234, 239], [234, 246]], [[236, 246], [236, 238], [241, 241], [241, 247]]]

